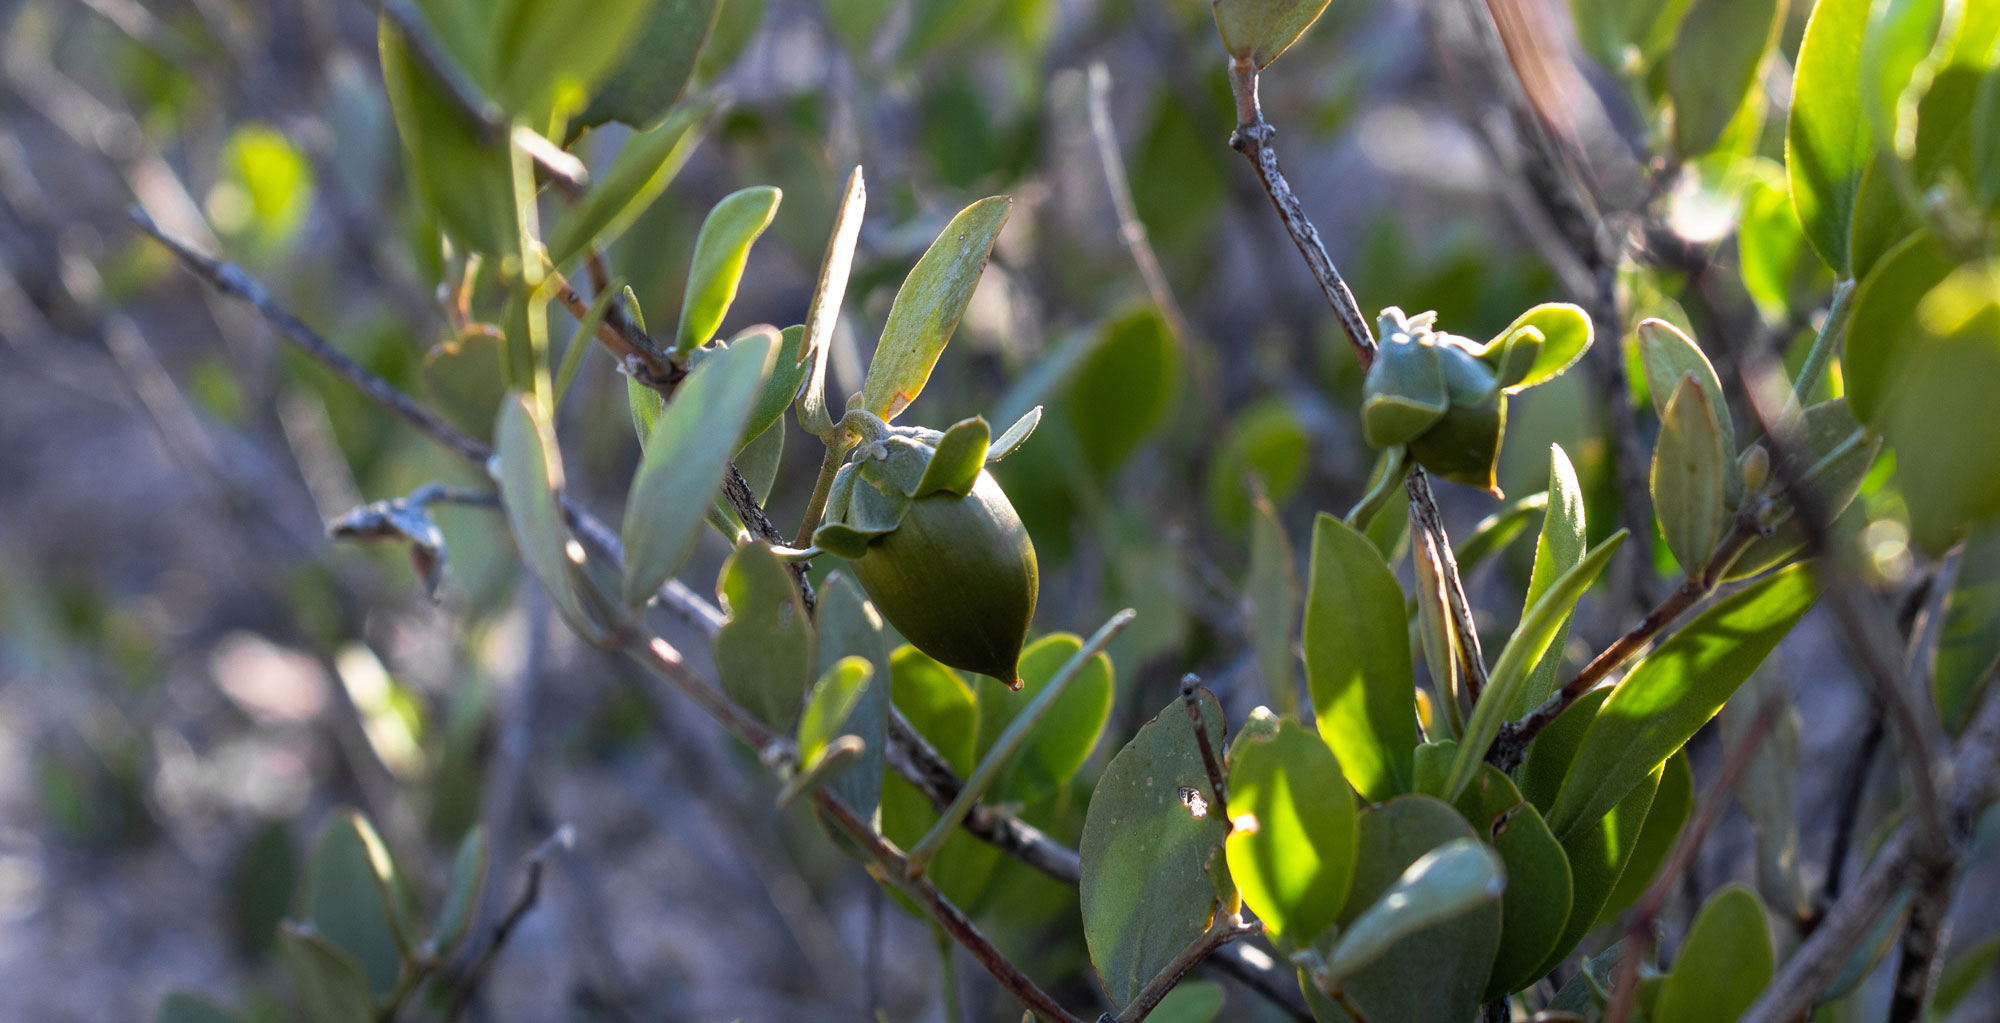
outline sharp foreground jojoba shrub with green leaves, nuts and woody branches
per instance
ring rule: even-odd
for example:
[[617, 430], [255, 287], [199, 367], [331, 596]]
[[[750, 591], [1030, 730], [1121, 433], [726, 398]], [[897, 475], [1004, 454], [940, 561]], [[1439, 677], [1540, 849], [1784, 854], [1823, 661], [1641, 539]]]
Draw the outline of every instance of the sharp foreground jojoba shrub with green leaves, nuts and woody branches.
[[[338, 535], [414, 543], [436, 567], [434, 504], [500, 506], [554, 611], [754, 751], [772, 813], [810, 805], [832, 849], [936, 929], [944, 975], [950, 947], [964, 949], [1004, 989], [1008, 1015], [1766, 1023], [1818, 1007], [1848, 1019], [1836, 1007], [1858, 1005], [1860, 977], [1892, 959], [1890, 1019], [1914, 1023], [1948, 1009], [1934, 995], [1940, 921], [1976, 865], [1974, 821], [2000, 797], [2000, 711], [1982, 699], [2000, 661], [2000, 454], [1974, 426], [2000, 384], [2000, 6], [1804, 6], [1794, 46], [1776, 0], [1570, 2], [1580, 46], [1616, 82], [1598, 96], [1616, 106], [1610, 120], [1658, 148], [1628, 154], [1654, 188], [1604, 218], [1588, 212], [1590, 182], [1556, 152], [1562, 140], [1522, 138], [1526, 126], [1556, 132], [1538, 106], [1556, 72], [1514, 62], [1568, 60], [1562, 40], [1534, 38], [1534, 18], [1510, 4], [1426, 6], [1424, 30], [1470, 76], [1454, 88], [1512, 98], [1512, 116], [1480, 116], [1478, 130], [1496, 162], [1528, 164], [1508, 170], [1574, 300], [1522, 294], [1500, 316], [1526, 312], [1480, 342], [1452, 334], [1474, 330], [1470, 318], [1356, 298], [1280, 170], [1260, 76], [1328, 4], [1214, 0], [1230, 146], [1250, 162], [1238, 174], [1270, 196], [1360, 370], [1358, 402], [1326, 404], [1320, 420], [1338, 428], [1312, 444], [1358, 442], [1376, 464], [1372, 484], [1342, 494], [1348, 512], [1310, 517], [1300, 581], [1288, 521], [1314, 510], [1276, 470], [1294, 436], [1306, 444], [1282, 402], [1260, 406], [1278, 428], [1248, 430], [1248, 412], [1228, 424], [1226, 458], [1204, 444], [1206, 424], [1172, 442], [1174, 458], [1216, 456], [1206, 472], [1218, 490], [1248, 496], [1240, 607], [1216, 613], [1202, 643], [1242, 647], [1226, 653], [1254, 663], [1262, 693], [1212, 651], [1172, 663], [1202, 667], [1208, 683], [1186, 675], [1164, 701], [1144, 683], [1172, 661], [1164, 647], [1136, 651], [1134, 633], [1158, 607], [1146, 567], [1174, 561], [1174, 541], [1120, 545], [1150, 519], [1104, 490], [1174, 422], [1162, 412], [1174, 402], [1166, 386], [1128, 400], [1116, 380], [1180, 372], [1126, 352], [1186, 358], [1190, 374], [1206, 364], [1186, 356], [1202, 342], [1136, 222], [1124, 240], [1156, 316], [1118, 318], [1118, 346], [1084, 332], [1028, 366], [998, 408], [1030, 412], [998, 438], [982, 416], [944, 408], [958, 392], [926, 406], [944, 430], [898, 418], [972, 306], [1008, 196], [942, 230], [918, 218], [932, 242], [914, 262], [894, 246], [894, 258], [870, 256], [872, 276], [894, 264], [886, 280], [900, 284], [850, 396], [830, 392], [836, 326], [846, 314], [860, 332], [880, 312], [844, 310], [866, 212], [860, 168], [832, 204], [802, 324], [718, 336], [752, 246], [784, 216], [784, 194], [754, 186], [708, 212], [672, 338], [648, 334], [604, 248], [710, 132], [714, 96], [680, 98], [692, 52], [662, 70], [660, 54], [594, 40], [700, 40], [712, 4], [626, 0], [582, 18], [574, 4], [520, 0], [518, 18], [492, 24], [444, 16], [444, 4], [382, 6], [408, 176], [450, 240], [444, 278], [460, 316], [424, 362], [448, 416], [368, 376], [242, 270], [144, 226], [494, 484], [492, 496], [392, 498], [336, 523]], [[916, 18], [920, 34], [944, 32]], [[1764, 82], [1786, 60], [1788, 120], [1764, 132], [1778, 114]], [[592, 132], [612, 122], [630, 134], [586, 168]], [[1106, 160], [1124, 188], [1116, 138]], [[1700, 202], [1738, 210], [1730, 256], [1676, 234], [1676, 208]], [[898, 214], [912, 206], [934, 204], [898, 196]], [[1716, 300], [1728, 272], [1754, 328]], [[578, 324], [560, 358], [550, 304]], [[474, 308], [484, 320], [470, 320]], [[1162, 344], [1146, 344], [1152, 330]], [[1794, 332], [1804, 340], [1786, 358], [1772, 342]], [[586, 362], [594, 348], [626, 378], [640, 442], [618, 529], [578, 500], [556, 428], [580, 374], [606, 372]], [[1508, 498], [1510, 410], [1560, 388], [1604, 392], [1588, 406], [1602, 432], [1550, 446], [1544, 492], [1486, 508]], [[780, 533], [788, 410], [818, 440], [820, 470], [798, 529]], [[1146, 426], [1118, 434], [1130, 422]], [[1040, 452], [1024, 448], [1030, 434]], [[1034, 458], [1056, 468], [1018, 470]], [[1446, 498], [1490, 515], [1454, 541], [1432, 480], [1464, 486]], [[1066, 585], [1108, 573], [1116, 603], [1134, 605], [1088, 639], [1050, 631], [1072, 625], [1054, 617], [1104, 609], [1038, 599], [1028, 523], [1048, 508], [1114, 547], [1076, 555], [1066, 541], [1050, 563], [1086, 561], [1060, 567]], [[1478, 585], [1474, 571], [1504, 563], [1536, 515], [1532, 551], [1512, 565], [1518, 593]], [[1880, 569], [1884, 529], [1922, 559], [1920, 583]], [[1236, 537], [1216, 533], [1216, 549], [1236, 555]], [[690, 571], [704, 543], [728, 549], [712, 599]], [[1578, 611], [1586, 597], [1590, 615]], [[1920, 607], [1908, 621], [1942, 625], [1898, 633], [1886, 597]], [[1908, 803], [1866, 853], [1842, 837], [1824, 905], [1804, 901], [1796, 763], [1782, 753], [1796, 759], [1796, 733], [1772, 741], [1796, 725], [1764, 669], [1818, 603], [1858, 649]], [[654, 611], [710, 645], [712, 673]], [[1280, 709], [1254, 705], [1260, 695]], [[1720, 751], [1690, 753], [1718, 715]], [[1752, 795], [1752, 783], [1784, 795]], [[1676, 907], [1732, 793], [1756, 831], [1758, 885], [1716, 885]], [[1848, 855], [1868, 863], [1842, 895]], [[486, 859], [474, 831], [440, 905], [418, 913], [368, 821], [336, 819], [278, 939], [306, 1017], [456, 1017], [508, 933], [488, 929], [484, 953], [464, 951], [492, 883]], [[1060, 883], [1054, 895], [1046, 881]], [[1044, 935], [1056, 951], [1034, 955]], [[1086, 957], [1064, 957], [1060, 939], [1078, 935]], [[1210, 989], [1196, 985], [1210, 981], [1190, 977], [1204, 973], [1234, 979], [1226, 1009], [1220, 987], [1202, 1001]], [[950, 981], [946, 991], [956, 999]], [[198, 1019], [188, 1005], [170, 1001], [162, 1019]]]

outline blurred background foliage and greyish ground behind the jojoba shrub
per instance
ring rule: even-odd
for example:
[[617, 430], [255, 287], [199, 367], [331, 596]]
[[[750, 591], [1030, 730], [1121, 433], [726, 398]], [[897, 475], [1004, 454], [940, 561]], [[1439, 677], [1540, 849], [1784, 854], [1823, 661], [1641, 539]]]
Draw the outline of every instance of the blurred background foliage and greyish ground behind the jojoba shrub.
[[[1780, 24], [1780, 60], [1804, 8]], [[936, 1019], [926, 929], [806, 815], [764, 811], [770, 783], [692, 707], [648, 703], [628, 663], [552, 629], [546, 601], [516, 585], [504, 519], [438, 508], [450, 551], [438, 601], [400, 549], [324, 539], [322, 523], [368, 500], [484, 482], [274, 346], [126, 226], [140, 204], [272, 282], [368, 370], [446, 400], [426, 354], [454, 338], [440, 298], [458, 262], [406, 178], [370, 4], [12, 0], [0, 24], [0, 1015], [142, 1019], [166, 991], [196, 989], [286, 1019], [276, 921], [298, 905], [304, 849], [354, 805], [424, 905], [444, 891], [460, 835], [484, 823], [486, 921], [518, 891], [524, 855], [574, 825], [542, 907], [494, 969], [484, 1019], [860, 1019], [864, 1005]], [[1582, 64], [1612, 116], [1666, 90], [1664, 62], [1644, 66], [1656, 52], [1606, 50], [1588, 32], [1574, 42], [1600, 58]], [[658, 40], [688, 60], [684, 44]], [[1608, 70], [1630, 60], [1644, 74]], [[1120, 234], [1092, 126], [1094, 62], [1178, 310], [1148, 294]], [[1208, 4], [720, 0], [690, 92], [720, 112], [610, 266], [664, 330], [708, 208], [778, 186], [784, 204], [724, 334], [800, 322], [840, 184], [864, 166], [872, 204], [836, 334], [838, 394], [858, 388], [868, 338], [944, 220], [978, 196], [1016, 198], [914, 416], [1006, 424], [1046, 406], [1042, 436], [1000, 466], [1042, 557], [1036, 631], [1140, 611], [1112, 645], [1116, 703], [1092, 765], [1022, 807], [1074, 845], [1090, 777], [1184, 671], [1200, 671], [1232, 719], [1270, 699], [1244, 599], [1254, 494], [1302, 549], [1310, 515], [1346, 510], [1372, 468], [1354, 356], [1226, 144], [1234, 110]], [[1832, 278], [1784, 202], [1784, 118], [1758, 122], [1770, 104], [1754, 106], [1730, 120], [1734, 156], [1692, 164], [1664, 202], [1692, 244], [1742, 226], [1716, 254], [1724, 280], [1700, 286], [1796, 334], [1796, 362], [1812, 336], [1798, 310]], [[1264, 108], [1370, 312], [1436, 310], [1444, 330], [1488, 338], [1536, 302], [1570, 298], [1516, 218], [1516, 182], [1466, 126], [1476, 106], [1416, 4], [1334, 2], [1266, 78]], [[598, 168], [628, 136], [606, 124], [574, 150]], [[1580, 152], [1600, 142], [1586, 132]], [[1616, 160], [1592, 170], [1614, 196], [1646, 184], [1644, 168]], [[1630, 270], [1622, 286], [1632, 322], [1698, 326], [1674, 272]], [[552, 330], [566, 338], [570, 322], [558, 314]], [[1648, 408], [1644, 374], [1626, 378]], [[1500, 466], [1508, 496], [1534, 494], [1548, 446], [1562, 444], [1592, 533], [1620, 521], [1604, 380], [1572, 372], [1514, 402]], [[1838, 394], [1838, 376], [1826, 388]], [[586, 354], [560, 422], [572, 494], [608, 513], [638, 458], [622, 392], [610, 362]], [[782, 428], [768, 506], [788, 523], [818, 452], [792, 418]], [[1500, 504], [1466, 488], [1444, 498], [1460, 537]], [[1404, 541], [1400, 519], [1384, 515], [1380, 545]], [[1870, 581], [1904, 587], [1916, 561], [1892, 458], [1848, 519], [1868, 537]], [[1518, 605], [1524, 547], [1472, 575], [1476, 607]], [[1664, 585], [1672, 559], [1654, 549]], [[682, 577], [714, 577], [726, 553], [706, 535]], [[1630, 611], [1616, 595], [1596, 607], [1572, 657]], [[1488, 649], [1512, 627], [1478, 623]], [[1844, 677], [1826, 639], [1808, 621], [1770, 671]], [[1802, 707], [1808, 765], [1866, 713], [1856, 685], [1822, 689]], [[1808, 769], [1800, 785], [1800, 805], [1826, 805], [1836, 771]], [[1888, 791], [1864, 803], [1868, 821], [1888, 819]], [[1704, 881], [1754, 855], [1732, 823], [1698, 865]], [[1830, 827], [1804, 817], [1814, 847]], [[968, 903], [1018, 963], [1088, 1003], [1074, 891], [1000, 859]], [[966, 963], [958, 977], [972, 1019], [1000, 1019], [990, 981]], [[1206, 999], [1176, 997], [1186, 1019], [1202, 1019]], [[1232, 999], [1242, 1019], [1268, 1011]]]

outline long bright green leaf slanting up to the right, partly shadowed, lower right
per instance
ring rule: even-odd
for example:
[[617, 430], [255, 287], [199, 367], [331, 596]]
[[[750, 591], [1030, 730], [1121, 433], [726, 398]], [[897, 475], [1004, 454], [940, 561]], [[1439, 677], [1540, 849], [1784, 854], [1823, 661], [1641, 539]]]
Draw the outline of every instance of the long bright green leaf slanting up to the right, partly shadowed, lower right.
[[1820, 589], [1794, 565], [1716, 601], [1612, 689], [1584, 735], [1548, 825], [1568, 839], [1612, 809], [1722, 709], [1812, 607]]

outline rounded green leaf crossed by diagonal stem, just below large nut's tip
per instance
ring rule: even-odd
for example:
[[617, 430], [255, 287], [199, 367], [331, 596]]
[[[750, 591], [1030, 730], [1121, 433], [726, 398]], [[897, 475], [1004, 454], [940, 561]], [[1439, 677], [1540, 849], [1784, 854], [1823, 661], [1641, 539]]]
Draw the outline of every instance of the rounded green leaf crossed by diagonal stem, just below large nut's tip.
[[[998, 693], [994, 693], [996, 699], [980, 703], [980, 735], [998, 737], [1006, 731], [1014, 715], [1028, 707], [1082, 647], [1082, 637], [1068, 631], [1044, 635], [1022, 647], [1022, 685], [1018, 691], [1000, 683], [992, 685]], [[994, 785], [994, 795], [1012, 803], [1032, 803], [1068, 785], [1090, 759], [1090, 751], [1096, 749], [1098, 737], [1110, 721], [1112, 677], [1112, 659], [1104, 653], [1092, 657], [1008, 761]], [[982, 685], [980, 691], [986, 693], [986, 687]], [[984, 751], [982, 743], [980, 753]]]

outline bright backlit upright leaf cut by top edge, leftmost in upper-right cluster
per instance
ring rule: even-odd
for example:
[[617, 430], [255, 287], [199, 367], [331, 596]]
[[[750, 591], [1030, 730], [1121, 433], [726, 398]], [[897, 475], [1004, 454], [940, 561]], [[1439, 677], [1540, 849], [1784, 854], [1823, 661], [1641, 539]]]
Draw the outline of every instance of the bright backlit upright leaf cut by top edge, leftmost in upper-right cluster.
[[1792, 72], [1784, 172], [1806, 238], [1836, 274], [1852, 266], [1854, 200], [1874, 152], [1868, 118], [1860, 116], [1868, 8], [1870, 0], [1818, 0]]

